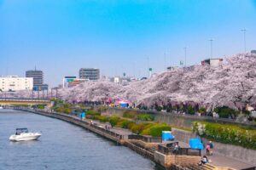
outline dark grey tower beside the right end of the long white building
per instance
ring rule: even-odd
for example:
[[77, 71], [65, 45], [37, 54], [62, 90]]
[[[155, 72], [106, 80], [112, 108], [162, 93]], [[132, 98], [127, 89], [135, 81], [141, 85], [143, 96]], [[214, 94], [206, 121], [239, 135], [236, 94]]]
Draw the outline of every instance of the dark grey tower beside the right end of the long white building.
[[48, 85], [44, 84], [44, 72], [43, 71], [26, 71], [26, 77], [33, 78], [33, 89], [34, 90], [47, 90]]

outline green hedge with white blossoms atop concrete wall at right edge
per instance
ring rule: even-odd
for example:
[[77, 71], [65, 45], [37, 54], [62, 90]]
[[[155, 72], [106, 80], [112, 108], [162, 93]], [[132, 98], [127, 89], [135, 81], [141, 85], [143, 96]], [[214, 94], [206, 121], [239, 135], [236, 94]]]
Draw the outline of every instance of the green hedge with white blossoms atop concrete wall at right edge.
[[256, 150], [256, 130], [253, 129], [214, 122], [194, 122], [193, 131], [220, 143]]

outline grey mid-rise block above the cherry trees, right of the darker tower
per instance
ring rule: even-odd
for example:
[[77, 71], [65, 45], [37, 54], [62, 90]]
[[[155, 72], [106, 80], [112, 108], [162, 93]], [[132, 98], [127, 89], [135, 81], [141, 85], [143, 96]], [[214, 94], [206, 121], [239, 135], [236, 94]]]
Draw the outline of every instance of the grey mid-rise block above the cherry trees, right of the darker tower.
[[100, 69], [81, 68], [79, 70], [79, 78], [96, 81], [100, 79]]

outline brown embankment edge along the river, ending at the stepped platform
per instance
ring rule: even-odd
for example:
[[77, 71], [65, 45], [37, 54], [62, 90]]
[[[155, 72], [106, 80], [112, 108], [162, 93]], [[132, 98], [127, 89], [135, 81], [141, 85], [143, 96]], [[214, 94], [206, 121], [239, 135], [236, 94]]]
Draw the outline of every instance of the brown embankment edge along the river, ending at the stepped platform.
[[[22, 110], [22, 111], [28, 111], [28, 110]], [[131, 150], [137, 151], [137, 153], [148, 157], [150, 160], [154, 161], [157, 164], [160, 164], [162, 167], [169, 168], [171, 167], [172, 164], [178, 163], [184, 165], [183, 162], [189, 162], [189, 164], [194, 164], [196, 165], [197, 162], [200, 160], [200, 156], [196, 157], [191, 157], [191, 156], [178, 156], [173, 157], [173, 156], [168, 156], [160, 153], [156, 146], [157, 144], [154, 143], [145, 143], [142, 140], [131, 140], [129, 139], [129, 135], [131, 133], [128, 133], [127, 131], [124, 133], [124, 129], [116, 129], [116, 128], [111, 128], [111, 131], [108, 131], [104, 128], [103, 123], [99, 124], [98, 122], [96, 124], [91, 124], [90, 121], [82, 121], [78, 117], [75, 116], [68, 116], [67, 114], [61, 114], [61, 113], [49, 113], [49, 112], [44, 112], [44, 111], [32, 111], [29, 110], [30, 112], [43, 115], [43, 116], [50, 116], [53, 118], [61, 119], [66, 122], [71, 122], [73, 124], [79, 125], [80, 127], [84, 127], [88, 130], [90, 130], [93, 133], [97, 133], [101, 135], [102, 137], [105, 137], [107, 139], [111, 139], [117, 144], [123, 144]], [[193, 159], [192, 159], [193, 158]], [[189, 161], [190, 160], [190, 161]], [[192, 162], [191, 162], [192, 160]]]

